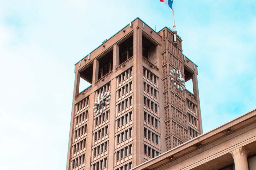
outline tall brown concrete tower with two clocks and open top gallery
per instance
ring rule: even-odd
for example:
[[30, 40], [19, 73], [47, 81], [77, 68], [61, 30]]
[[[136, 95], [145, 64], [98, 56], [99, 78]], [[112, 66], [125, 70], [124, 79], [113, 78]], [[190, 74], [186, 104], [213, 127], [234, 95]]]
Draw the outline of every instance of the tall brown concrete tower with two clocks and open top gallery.
[[202, 134], [197, 66], [181, 43], [136, 18], [75, 64], [67, 170], [128, 170]]

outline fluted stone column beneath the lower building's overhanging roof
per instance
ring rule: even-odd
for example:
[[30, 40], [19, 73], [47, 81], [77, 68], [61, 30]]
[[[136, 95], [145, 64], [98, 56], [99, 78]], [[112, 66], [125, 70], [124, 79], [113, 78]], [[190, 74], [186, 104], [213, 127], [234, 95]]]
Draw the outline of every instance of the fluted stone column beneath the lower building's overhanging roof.
[[233, 156], [236, 170], [249, 170], [247, 161], [248, 150], [246, 148], [235, 149], [230, 154]]

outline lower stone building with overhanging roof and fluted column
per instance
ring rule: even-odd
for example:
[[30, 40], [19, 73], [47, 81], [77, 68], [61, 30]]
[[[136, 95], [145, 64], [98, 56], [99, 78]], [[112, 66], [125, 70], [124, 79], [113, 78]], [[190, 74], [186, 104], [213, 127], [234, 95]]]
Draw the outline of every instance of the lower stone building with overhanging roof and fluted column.
[[133, 170], [256, 170], [256, 109]]

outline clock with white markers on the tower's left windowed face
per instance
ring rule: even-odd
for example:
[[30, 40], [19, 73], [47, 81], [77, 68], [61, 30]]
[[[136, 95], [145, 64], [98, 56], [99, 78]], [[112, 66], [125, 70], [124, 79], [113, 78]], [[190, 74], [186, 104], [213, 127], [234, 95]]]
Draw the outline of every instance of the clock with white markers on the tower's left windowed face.
[[109, 92], [98, 94], [97, 100], [94, 102], [93, 112], [96, 114], [102, 113], [104, 110], [106, 110], [109, 103], [110, 103]]

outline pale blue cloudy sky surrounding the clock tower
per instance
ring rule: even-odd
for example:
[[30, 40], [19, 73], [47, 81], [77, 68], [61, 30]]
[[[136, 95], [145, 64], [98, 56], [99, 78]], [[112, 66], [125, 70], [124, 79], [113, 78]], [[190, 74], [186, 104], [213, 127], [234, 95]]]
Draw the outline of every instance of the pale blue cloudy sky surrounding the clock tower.
[[[256, 107], [255, 0], [174, 0], [198, 65], [203, 131]], [[159, 0], [0, 0], [0, 169], [66, 168], [74, 64], [136, 17], [172, 27]]]

